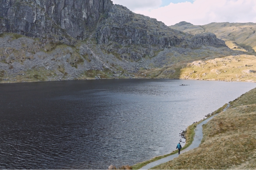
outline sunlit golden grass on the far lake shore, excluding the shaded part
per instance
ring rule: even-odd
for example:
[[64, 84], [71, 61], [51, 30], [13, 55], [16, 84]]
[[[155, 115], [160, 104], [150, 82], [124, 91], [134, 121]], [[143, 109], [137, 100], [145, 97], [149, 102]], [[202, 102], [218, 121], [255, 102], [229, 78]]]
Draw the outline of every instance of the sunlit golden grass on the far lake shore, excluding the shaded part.
[[[181, 69], [181, 79], [205, 79], [226, 81], [256, 81], [256, 56], [237, 55], [204, 60], [200, 66], [189, 63]], [[206, 73], [206, 74], [205, 74]]]

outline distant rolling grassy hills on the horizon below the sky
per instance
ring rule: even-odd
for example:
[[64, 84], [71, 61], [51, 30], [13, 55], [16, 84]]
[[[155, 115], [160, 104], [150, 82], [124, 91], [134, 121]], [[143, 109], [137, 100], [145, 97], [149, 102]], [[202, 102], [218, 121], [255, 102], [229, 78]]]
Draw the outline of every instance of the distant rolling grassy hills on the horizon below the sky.
[[253, 52], [254, 54], [256, 51], [256, 23], [226, 22], [195, 26], [191, 23], [180, 22], [170, 26], [170, 28], [193, 35], [202, 32], [214, 33], [217, 38], [224, 40], [231, 49]]

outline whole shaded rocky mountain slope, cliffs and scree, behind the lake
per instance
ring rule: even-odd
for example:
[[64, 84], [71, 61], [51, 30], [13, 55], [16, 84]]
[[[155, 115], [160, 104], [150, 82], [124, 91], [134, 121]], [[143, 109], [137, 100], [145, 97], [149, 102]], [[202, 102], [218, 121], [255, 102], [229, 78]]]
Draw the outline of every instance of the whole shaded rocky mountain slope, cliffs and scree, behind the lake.
[[0, 0], [2, 83], [134, 78], [237, 54], [214, 34], [171, 29], [110, 0]]

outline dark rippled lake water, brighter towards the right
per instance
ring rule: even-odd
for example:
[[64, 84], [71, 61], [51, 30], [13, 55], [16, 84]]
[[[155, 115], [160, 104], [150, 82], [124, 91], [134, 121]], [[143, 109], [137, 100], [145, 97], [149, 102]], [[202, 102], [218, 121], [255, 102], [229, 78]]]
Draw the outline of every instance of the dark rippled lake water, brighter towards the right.
[[0, 84], [0, 169], [133, 165], [175, 150], [181, 130], [255, 87], [167, 79]]

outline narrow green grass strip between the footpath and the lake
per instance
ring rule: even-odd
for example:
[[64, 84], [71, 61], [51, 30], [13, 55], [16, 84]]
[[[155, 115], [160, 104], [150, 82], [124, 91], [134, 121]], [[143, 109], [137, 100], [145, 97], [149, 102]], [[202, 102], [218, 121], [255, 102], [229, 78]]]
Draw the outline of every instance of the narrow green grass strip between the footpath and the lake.
[[[208, 116], [208, 118], [211, 117], [212, 115], [215, 115], [215, 114], [220, 113], [220, 112], [221, 112], [224, 108], [226, 108], [226, 107], [227, 107], [227, 104], [225, 104], [223, 107], [219, 108], [219, 109], [216, 110], [215, 112], [211, 113], [211, 115]], [[190, 126], [186, 129], [186, 144], [185, 144], [185, 146], [182, 147], [181, 150], [186, 149], [186, 148], [193, 142], [194, 136], [195, 136], [195, 128], [196, 128], [196, 126], [197, 126], [198, 124], [200, 124], [202, 121], [204, 121], [204, 120], [201, 120], [201, 121], [199, 121], [199, 122], [197, 122], [197, 123], [195, 123], [195, 124], [193, 124], [193, 125], [190, 125]], [[175, 151], [173, 151], [172, 153], [167, 154], [167, 155], [157, 156], [157, 157], [152, 158], [152, 159], [150, 159], [150, 160], [147, 160], [147, 161], [145, 161], [145, 162], [137, 163], [137, 164], [135, 164], [135, 165], [132, 166], [132, 169], [140, 169], [140, 168], [142, 168], [143, 166], [145, 166], [145, 165], [147, 165], [147, 164], [149, 164], [149, 163], [151, 163], [151, 162], [157, 161], [157, 160], [159, 160], [159, 159], [165, 158], [165, 157], [167, 157], [167, 156], [170, 156], [170, 155], [173, 155], [173, 154], [176, 154], [176, 153], [178, 153], [178, 150], [175, 150]]]

